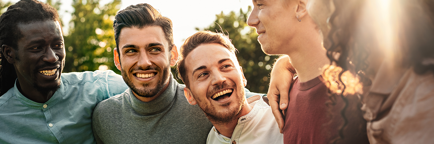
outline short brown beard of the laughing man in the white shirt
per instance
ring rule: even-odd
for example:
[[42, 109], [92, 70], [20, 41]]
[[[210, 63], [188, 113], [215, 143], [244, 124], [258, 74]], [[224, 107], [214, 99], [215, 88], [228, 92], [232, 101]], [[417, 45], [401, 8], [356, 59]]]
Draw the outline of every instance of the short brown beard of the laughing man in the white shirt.
[[[210, 97], [210, 95], [212, 95], [213, 93], [215, 93], [219, 90], [222, 90], [222, 89], [226, 89], [228, 87], [236, 87], [236, 86], [235, 86], [235, 84], [230, 85], [230, 84], [224, 82], [222, 85], [214, 86], [213, 90], [208, 91], [207, 97]], [[243, 109], [243, 107], [245, 105], [246, 97], [243, 95], [244, 94], [244, 88], [242, 86], [240, 86], [240, 88], [237, 90], [237, 92], [240, 92], [241, 96], [238, 94], [234, 95], [237, 97], [236, 109], [229, 109], [229, 112], [224, 113], [224, 114], [217, 113], [216, 108], [214, 107], [214, 105], [212, 103], [209, 106], [201, 106], [202, 102], [197, 98], [195, 98], [195, 99], [197, 100], [199, 107], [205, 112], [205, 115], [207, 116], [207, 118], [210, 121], [216, 122], [219, 125], [225, 125], [225, 124], [231, 122], [233, 119], [238, 118], [239, 115], [241, 114], [241, 109]], [[231, 104], [231, 102], [228, 102], [228, 103], [224, 104], [223, 106], [230, 106], [230, 104]]]

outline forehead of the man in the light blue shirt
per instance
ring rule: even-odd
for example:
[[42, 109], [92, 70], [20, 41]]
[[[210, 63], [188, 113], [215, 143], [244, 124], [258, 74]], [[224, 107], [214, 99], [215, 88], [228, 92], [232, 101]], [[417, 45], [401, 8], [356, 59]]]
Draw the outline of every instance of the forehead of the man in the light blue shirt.
[[60, 23], [57, 21], [47, 20], [19, 23], [17, 26], [23, 35], [23, 38], [19, 42], [63, 40], [62, 29]]

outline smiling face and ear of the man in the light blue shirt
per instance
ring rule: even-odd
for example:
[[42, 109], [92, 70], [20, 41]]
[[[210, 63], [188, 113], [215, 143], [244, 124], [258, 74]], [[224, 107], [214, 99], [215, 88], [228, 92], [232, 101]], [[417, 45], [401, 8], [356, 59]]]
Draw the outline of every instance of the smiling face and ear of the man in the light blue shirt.
[[14, 65], [17, 88], [26, 98], [47, 102], [60, 86], [65, 48], [59, 22], [53, 20], [20, 23], [23, 35], [18, 48], [2, 45], [7, 61]]

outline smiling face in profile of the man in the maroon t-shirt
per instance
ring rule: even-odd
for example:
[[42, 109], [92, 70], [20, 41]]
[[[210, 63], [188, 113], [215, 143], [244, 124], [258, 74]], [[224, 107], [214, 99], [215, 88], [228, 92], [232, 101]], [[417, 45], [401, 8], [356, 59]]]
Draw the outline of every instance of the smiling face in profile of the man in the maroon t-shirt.
[[258, 42], [266, 54], [283, 54], [293, 40], [297, 5], [293, 0], [253, 0], [247, 24], [256, 28]]

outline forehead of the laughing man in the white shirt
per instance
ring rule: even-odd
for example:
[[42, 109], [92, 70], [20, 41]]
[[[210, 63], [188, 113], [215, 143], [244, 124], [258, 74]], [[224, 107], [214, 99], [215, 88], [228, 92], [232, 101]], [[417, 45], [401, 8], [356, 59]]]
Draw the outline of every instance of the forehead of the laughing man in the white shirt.
[[218, 61], [230, 58], [231, 61], [236, 63], [237, 59], [235, 54], [230, 52], [226, 47], [220, 44], [203, 44], [199, 45], [185, 58], [185, 65], [187, 72], [192, 72], [193, 69], [201, 66], [211, 66], [218, 64]]

